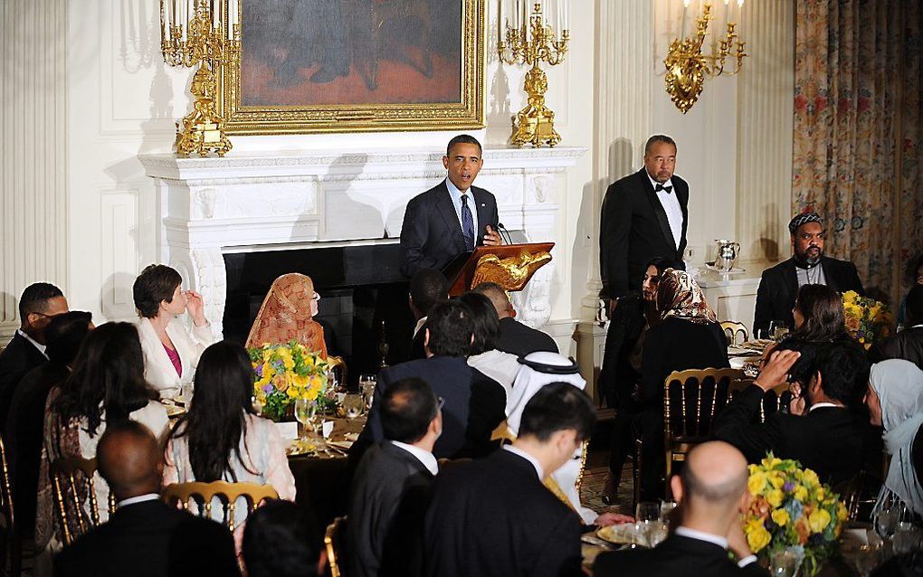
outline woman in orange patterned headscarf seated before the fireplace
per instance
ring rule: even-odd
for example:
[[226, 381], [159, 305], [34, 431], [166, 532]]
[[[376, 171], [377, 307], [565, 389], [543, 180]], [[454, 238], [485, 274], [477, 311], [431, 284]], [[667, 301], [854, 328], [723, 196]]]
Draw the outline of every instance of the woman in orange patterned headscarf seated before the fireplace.
[[246, 347], [258, 348], [266, 343], [294, 340], [327, 358], [324, 328], [314, 320], [319, 301], [320, 295], [315, 292], [310, 277], [297, 272], [283, 274], [272, 282], [270, 292], [263, 299], [246, 338]]

